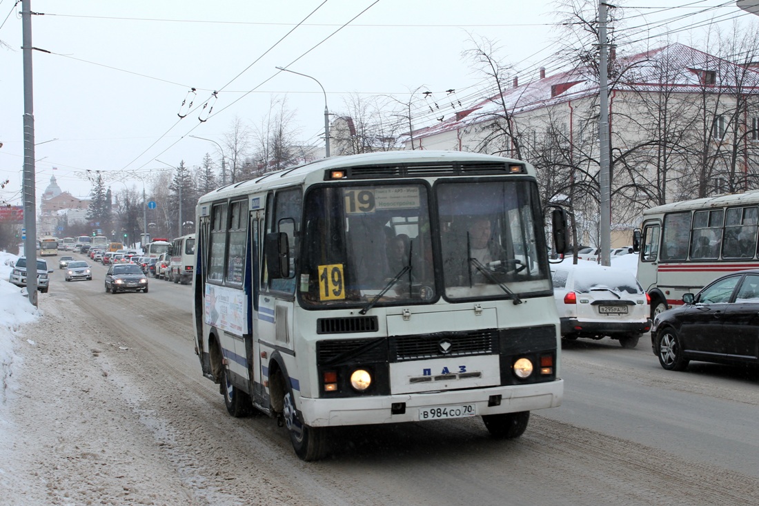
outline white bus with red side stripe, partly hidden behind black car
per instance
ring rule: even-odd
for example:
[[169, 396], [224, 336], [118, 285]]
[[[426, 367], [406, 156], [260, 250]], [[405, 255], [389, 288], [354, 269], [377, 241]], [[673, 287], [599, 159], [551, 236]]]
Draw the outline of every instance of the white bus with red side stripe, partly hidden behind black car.
[[759, 191], [664, 204], [645, 210], [638, 281], [651, 297], [651, 318], [714, 278], [759, 268]]

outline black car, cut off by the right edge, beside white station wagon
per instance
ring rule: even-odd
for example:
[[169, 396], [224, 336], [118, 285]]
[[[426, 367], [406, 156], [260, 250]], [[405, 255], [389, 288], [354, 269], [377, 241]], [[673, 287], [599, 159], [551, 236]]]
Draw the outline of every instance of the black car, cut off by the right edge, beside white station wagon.
[[682, 300], [653, 320], [651, 344], [663, 368], [683, 371], [691, 360], [759, 363], [759, 270], [726, 274]]

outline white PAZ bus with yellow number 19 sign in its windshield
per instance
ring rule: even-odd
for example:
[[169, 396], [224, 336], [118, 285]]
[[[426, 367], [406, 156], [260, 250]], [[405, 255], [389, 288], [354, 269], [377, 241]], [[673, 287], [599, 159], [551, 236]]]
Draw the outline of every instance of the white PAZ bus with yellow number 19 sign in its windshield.
[[[559, 318], [534, 168], [369, 153], [269, 172], [197, 205], [196, 353], [233, 416], [317, 460], [327, 429], [481, 416], [515, 438], [559, 406]], [[553, 211], [563, 251], [562, 210]]]

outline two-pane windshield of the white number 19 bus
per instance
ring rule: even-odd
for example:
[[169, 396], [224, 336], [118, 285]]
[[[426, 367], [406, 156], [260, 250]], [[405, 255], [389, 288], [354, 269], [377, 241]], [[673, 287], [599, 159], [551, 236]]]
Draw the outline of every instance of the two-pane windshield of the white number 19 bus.
[[[304, 306], [424, 304], [440, 296], [518, 300], [551, 290], [534, 183], [451, 181], [433, 191], [436, 213], [422, 184], [310, 191], [298, 280]], [[477, 226], [487, 230], [475, 236]]]

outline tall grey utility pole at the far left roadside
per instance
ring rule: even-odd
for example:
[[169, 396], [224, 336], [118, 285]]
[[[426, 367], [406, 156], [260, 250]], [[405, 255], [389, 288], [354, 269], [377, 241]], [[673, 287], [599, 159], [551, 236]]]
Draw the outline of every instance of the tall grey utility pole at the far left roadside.
[[34, 101], [32, 86], [32, 6], [21, 2], [22, 56], [24, 61], [24, 255], [27, 257], [27, 294], [37, 307], [37, 217], [34, 170]]

